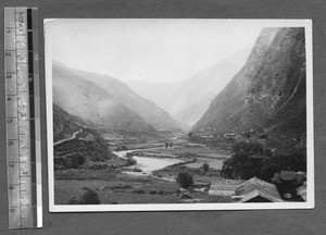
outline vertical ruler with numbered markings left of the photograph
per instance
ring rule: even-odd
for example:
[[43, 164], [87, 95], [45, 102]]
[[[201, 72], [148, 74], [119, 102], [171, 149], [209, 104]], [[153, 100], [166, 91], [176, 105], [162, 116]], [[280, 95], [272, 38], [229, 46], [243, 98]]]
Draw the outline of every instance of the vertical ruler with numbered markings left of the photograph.
[[9, 228], [42, 226], [37, 9], [4, 9]]

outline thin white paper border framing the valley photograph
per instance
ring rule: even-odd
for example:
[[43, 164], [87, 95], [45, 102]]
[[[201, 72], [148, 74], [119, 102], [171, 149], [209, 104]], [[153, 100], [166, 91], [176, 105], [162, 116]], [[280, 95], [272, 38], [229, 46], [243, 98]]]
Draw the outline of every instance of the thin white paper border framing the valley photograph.
[[[58, 18], [90, 20], [90, 18]], [[92, 18], [93, 20], [93, 18]], [[117, 20], [117, 18], [112, 18]], [[120, 18], [124, 20], [124, 18]], [[133, 21], [158, 18], [125, 18]], [[162, 18], [163, 20], [163, 18]], [[225, 21], [243, 24], [260, 24], [264, 27], [304, 27], [306, 60], [306, 201], [303, 202], [218, 202], [218, 203], [137, 203], [137, 205], [54, 205], [54, 165], [53, 165], [53, 103], [52, 103], [52, 48], [51, 38], [47, 37], [47, 24], [55, 18], [43, 21], [45, 62], [46, 62], [46, 99], [47, 99], [47, 137], [48, 137], [48, 183], [50, 212], [87, 212], [87, 211], [209, 211], [209, 210], [265, 210], [265, 209], [313, 209], [314, 196], [314, 119], [313, 119], [313, 38], [311, 20], [227, 20], [227, 18], [164, 18], [164, 21]], [[96, 21], [101, 21], [97, 18]], [[110, 21], [110, 20], [104, 20]]]

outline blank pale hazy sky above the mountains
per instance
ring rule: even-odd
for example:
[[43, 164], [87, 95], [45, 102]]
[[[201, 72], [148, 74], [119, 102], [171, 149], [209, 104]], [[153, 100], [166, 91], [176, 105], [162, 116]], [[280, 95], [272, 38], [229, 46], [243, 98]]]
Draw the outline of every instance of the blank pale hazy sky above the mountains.
[[121, 81], [174, 82], [252, 48], [262, 24], [218, 20], [54, 20], [46, 55]]

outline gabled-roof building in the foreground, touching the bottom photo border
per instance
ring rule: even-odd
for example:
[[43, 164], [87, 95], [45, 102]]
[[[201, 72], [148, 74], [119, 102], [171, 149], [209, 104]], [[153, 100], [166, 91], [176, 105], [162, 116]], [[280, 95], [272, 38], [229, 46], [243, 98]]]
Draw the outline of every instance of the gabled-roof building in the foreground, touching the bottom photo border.
[[236, 190], [238, 202], [281, 202], [278, 190], [274, 184], [269, 184], [258, 177], [252, 177], [242, 183]]

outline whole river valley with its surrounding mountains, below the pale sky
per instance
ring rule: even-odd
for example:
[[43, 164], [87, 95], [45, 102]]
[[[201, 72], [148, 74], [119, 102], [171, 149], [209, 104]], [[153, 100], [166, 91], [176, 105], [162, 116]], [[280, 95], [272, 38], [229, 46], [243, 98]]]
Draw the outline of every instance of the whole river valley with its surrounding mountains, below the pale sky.
[[231, 202], [211, 185], [306, 172], [303, 29], [264, 28], [248, 54], [156, 85], [54, 61], [55, 203]]

